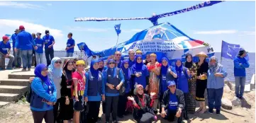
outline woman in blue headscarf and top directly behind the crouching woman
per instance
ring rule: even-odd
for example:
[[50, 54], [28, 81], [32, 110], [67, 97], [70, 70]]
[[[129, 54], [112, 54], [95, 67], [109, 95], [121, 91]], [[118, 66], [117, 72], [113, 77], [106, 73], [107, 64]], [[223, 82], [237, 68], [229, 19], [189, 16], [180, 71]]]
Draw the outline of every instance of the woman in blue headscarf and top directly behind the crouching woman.
[[[135, 76], [133, 79], [133, 87], [135, 88], [136, 85], [140, 84], [145, 88], [145, 91], [148, 91], [148, 83], [149, 83], [149, 72], [147, 66], [143, 64], [143, 57], [142, 55], [138, 54], [135, 57], [135, 64], [131, 67], [132, 76]], [[132, 90], [133, 91], [133, 90]]]

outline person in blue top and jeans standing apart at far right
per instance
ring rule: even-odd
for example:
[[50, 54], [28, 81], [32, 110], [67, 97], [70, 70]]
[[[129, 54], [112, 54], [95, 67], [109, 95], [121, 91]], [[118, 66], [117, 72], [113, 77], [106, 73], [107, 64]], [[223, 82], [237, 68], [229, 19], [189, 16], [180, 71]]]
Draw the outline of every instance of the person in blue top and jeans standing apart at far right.
[[234, 59], [234, 75], [235, 75], [235, 96], [242, 99], [245, 90], [246, 80], [246, 68], [249, 68], [250, 64], [245, 59], [247, 52], [245, 49], [240, 49], [238, 57]]

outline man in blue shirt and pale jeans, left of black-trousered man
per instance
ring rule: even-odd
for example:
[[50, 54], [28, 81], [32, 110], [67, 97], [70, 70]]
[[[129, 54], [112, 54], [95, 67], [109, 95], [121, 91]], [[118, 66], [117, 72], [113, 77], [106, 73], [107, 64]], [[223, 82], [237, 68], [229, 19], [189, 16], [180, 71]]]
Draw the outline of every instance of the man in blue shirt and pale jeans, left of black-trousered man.
[[38, 49], [35, 49], [35, 61], [38, 64], [43, 64], [43, 39], [41, 38], [41, 33], [36, 33], [37, 38], [35, 38], [35, 45]]

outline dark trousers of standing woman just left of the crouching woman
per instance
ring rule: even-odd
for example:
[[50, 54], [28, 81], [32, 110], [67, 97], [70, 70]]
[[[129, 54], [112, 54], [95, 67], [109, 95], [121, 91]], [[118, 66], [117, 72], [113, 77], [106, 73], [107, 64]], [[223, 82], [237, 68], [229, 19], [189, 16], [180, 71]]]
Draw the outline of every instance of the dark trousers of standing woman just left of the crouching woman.
[[118, 98], [119, 96], [106, 96], [106, 122], [109, 122], [110, 113], [112, 114], [113, 121], [116, 120]]

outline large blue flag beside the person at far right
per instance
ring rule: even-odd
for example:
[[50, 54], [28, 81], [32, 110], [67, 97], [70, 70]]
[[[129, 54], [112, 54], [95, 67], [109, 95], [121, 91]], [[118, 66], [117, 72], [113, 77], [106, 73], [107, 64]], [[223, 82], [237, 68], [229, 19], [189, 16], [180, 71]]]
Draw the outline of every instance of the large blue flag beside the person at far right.
[[230, 44], [222, 41], [221, 57], [226, 59], [235, 59], [238, 52], [240, 51], [240, 45]]

